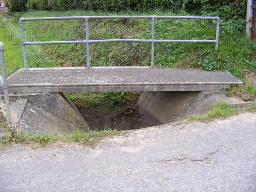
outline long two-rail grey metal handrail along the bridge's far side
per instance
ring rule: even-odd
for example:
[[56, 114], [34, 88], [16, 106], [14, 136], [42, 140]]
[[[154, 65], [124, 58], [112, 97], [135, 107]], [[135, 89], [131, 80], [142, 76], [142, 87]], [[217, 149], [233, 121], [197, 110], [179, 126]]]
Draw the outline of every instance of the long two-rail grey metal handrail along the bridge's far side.
[[[105, 40], [89, 40], [89, 19], [116, 19], [116, 18], [144, 18], [151, 19], [151, 39], [105, 39]], [[157, 40], [155, 39], [155, 19], [210, 19], [216, 20], [216, 39], [215, 40]], [[25, 42], [24, 40], [24, 30], [23, 30], [23, 21], [34, 21], [34, 20], [66, 20], [66, 19], [83, 19], [85, 20], [85, 30], [86, 30], [86, 40], [81, 41], [38, 41], [38, 42]], [[24, 58], [24, 68], [28, 69], [28, 64], [26, 60], [26, 45], [37, 45], [37, 44], [77, 44], [84, 43], [86, 44], [86, 66], [90, 68], [90, 54], [89, 54], [89, 44], [90, 43], [101, 43], [101, 42], [149, 42], [151, 43], [151, 66], [154, 66], [154, 44], [158, 42], [194, 42], [194, 43], [215, 43], [215, 51], [218, 50], [218, 41], [219, 41], [219, 30], [220, 30], [220, 18], [219, 17], [202, 17], [202, 16], [69, 16], [69, 17], [35, 17], [35, 18], [20, 18], [20, 30], [21, 30], [21, 39], [22, 39], [22, 49], [23, 49], [23, 58]]]

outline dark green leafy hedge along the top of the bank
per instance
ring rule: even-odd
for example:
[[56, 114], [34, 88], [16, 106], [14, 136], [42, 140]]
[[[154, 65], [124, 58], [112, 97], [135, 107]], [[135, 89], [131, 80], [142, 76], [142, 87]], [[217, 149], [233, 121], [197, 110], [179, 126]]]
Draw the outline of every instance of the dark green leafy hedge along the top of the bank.
[[244, 18], [246, 0], [9, 0], [11, 10], [94, 10], [120, 12], [162, 9], [193, 14], [214, 14], [227, 19]]

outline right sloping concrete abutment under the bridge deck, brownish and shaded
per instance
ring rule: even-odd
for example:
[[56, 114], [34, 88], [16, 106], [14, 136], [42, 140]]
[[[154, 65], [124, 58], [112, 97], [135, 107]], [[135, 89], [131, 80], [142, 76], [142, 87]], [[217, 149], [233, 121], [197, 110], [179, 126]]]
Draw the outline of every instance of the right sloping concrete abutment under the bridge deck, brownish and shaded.
[[223, 91], [143, 92], [138, 100], [144, 121], [152, 125], [167, 124], [191, 114], [205, 114], [216, 102], [232, 102]]

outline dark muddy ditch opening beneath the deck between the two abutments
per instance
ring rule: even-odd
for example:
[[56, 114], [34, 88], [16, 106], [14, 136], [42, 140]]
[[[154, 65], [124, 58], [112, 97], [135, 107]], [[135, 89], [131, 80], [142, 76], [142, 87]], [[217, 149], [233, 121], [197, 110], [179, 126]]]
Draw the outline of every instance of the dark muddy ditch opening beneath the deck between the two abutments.
[[97, 130], [133, 130], [152, 126], [144, 122], [138, 98], [142, 92], [71, 92], [74, 102], [88, 124]]

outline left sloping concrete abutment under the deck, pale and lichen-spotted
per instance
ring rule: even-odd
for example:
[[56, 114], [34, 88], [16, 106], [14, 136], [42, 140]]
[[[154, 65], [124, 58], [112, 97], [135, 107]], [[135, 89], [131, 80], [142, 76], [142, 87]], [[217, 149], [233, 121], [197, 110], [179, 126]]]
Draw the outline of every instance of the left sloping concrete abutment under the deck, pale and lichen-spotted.
[[13, 94], [10, 103], [14, 123], [29, 132], [64, 134], [90, 129], [78, 109], [64, 93]]

